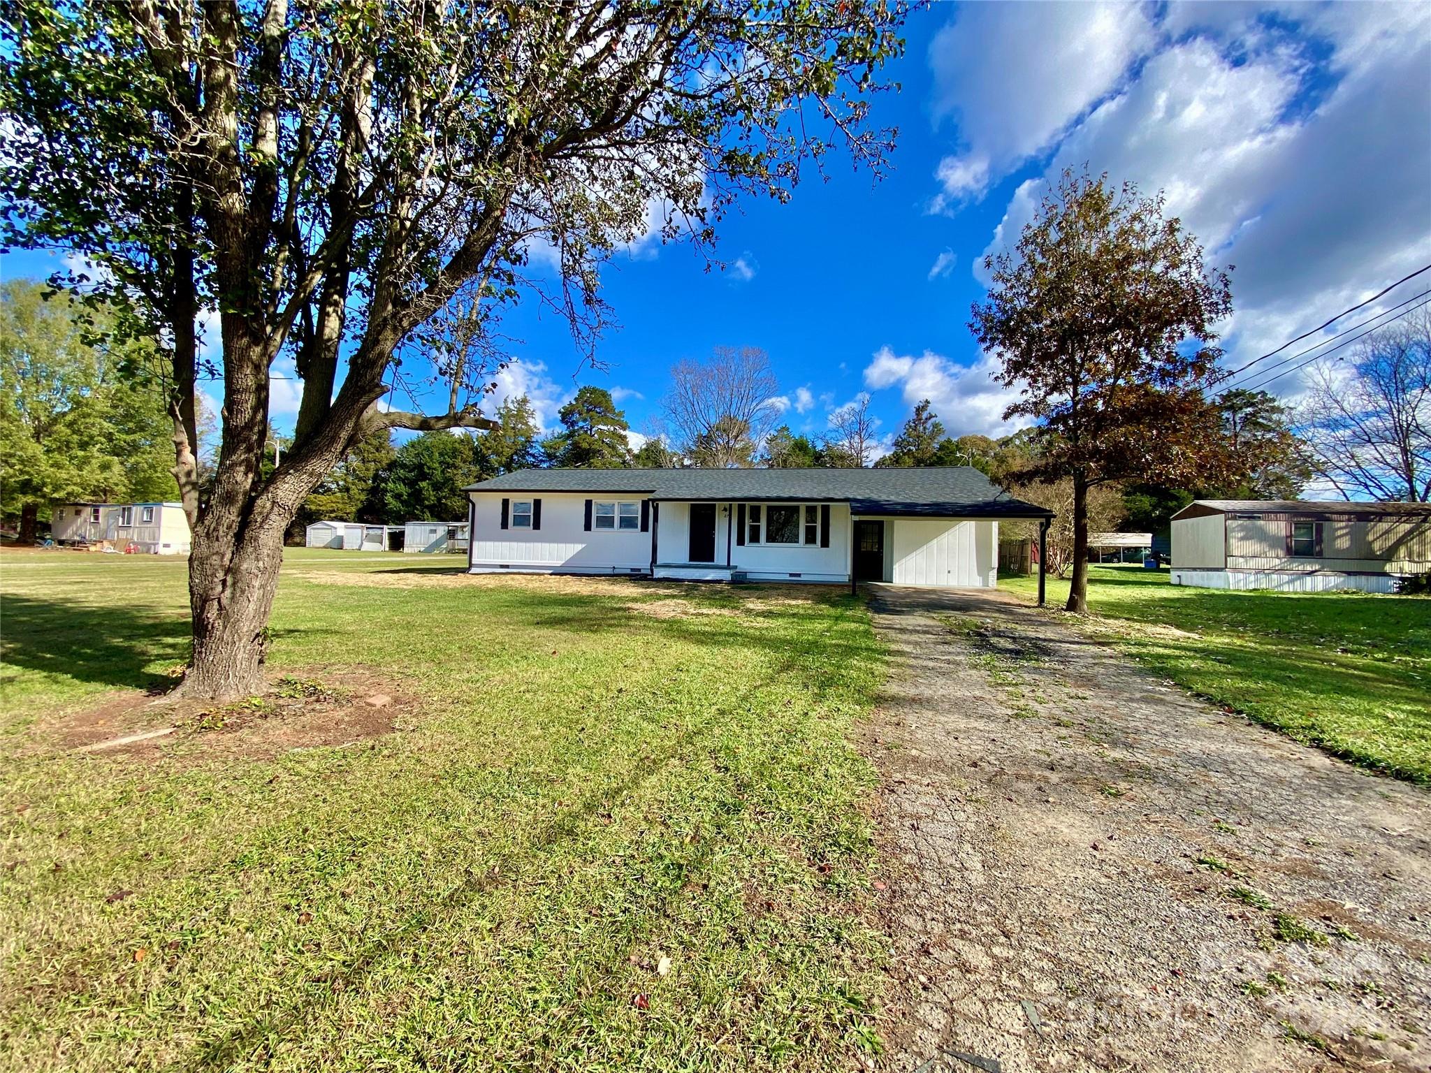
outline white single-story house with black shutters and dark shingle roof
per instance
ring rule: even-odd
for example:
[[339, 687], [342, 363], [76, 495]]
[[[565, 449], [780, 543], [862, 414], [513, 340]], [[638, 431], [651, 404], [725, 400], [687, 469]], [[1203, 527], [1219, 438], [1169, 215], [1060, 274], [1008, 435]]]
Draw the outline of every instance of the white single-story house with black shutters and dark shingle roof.
[[521, 469], [467, 491], [474, 574], [993, 588], [999, 519], [1053, 516], [970, 466]]

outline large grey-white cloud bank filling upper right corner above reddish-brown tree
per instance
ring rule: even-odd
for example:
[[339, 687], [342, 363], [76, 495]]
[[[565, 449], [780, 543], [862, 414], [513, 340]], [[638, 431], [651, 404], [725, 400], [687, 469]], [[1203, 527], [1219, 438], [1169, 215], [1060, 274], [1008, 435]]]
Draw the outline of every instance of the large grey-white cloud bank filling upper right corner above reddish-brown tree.
[[[980, 10], [1022, 24], [1017, 9]], [[1055, 132], [1047, 167], [1013, 193], [985, 253], [1013, 245], [1065, 166], [1162, 189], [1209, 260], [1236, 265], [1229, 366], [1431, 260], [1431, 4], [1269, 10], [1169, 6], [1162, 44]], [[1040, 62], [992, 47], [1006, 83], [985, 84], [989, 99], [1022, 93]], [[989, 282], [982, 258], [975, 275]], [[1289, 375], [1272, 388], [1298, 385]]]

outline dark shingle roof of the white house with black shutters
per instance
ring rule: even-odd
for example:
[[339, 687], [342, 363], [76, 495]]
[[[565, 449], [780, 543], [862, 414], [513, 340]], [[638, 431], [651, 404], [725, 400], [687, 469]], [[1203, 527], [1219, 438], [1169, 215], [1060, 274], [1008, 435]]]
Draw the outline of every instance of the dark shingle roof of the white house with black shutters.
[[857, 514], [1047, 518], [973, 466], [892, 469], [519, 469], [474, 492], [640, 492], [655, 499], [849, 502]]

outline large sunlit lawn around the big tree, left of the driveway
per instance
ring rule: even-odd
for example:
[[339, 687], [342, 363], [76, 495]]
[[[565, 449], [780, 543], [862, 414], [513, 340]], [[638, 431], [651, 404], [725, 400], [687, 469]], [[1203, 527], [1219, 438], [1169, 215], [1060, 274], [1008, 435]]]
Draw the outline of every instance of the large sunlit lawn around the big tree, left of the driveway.
[[877, 1047], [863, 607], [456, 562], [288, 555], [275, 672], [391, 677], [416, 698], [394, 733], [145, 760], [56, 728], [167, 681], [185, 565], [0, 554], [0, 1066], [804, 1070]]

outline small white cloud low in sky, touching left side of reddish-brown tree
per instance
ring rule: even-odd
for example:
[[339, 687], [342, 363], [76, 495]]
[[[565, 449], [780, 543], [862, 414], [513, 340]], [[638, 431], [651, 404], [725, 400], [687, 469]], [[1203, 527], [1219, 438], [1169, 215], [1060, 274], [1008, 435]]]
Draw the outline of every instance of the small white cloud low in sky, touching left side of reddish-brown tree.
[[1019, 426], [1003, 419], [1003, 411], [1016, 393], [995, 382], [996, 369], [997, 361], [990, 356], [960, 366], [933, 351], [914, 358], [881, 346], [864, 366], [864, 385], [871, 391], [899, 388], [900, 398], [910, 408], [929, 399], [952, 436], [1002, 436]]

